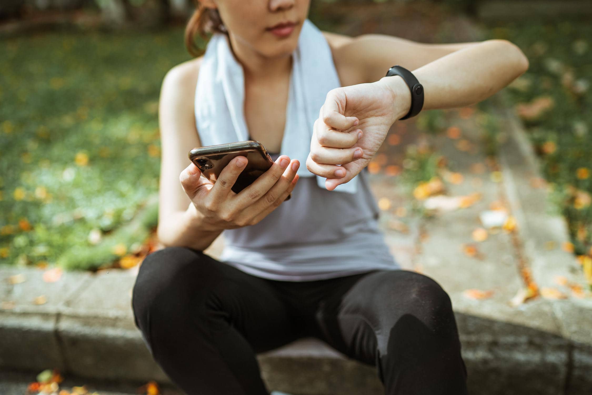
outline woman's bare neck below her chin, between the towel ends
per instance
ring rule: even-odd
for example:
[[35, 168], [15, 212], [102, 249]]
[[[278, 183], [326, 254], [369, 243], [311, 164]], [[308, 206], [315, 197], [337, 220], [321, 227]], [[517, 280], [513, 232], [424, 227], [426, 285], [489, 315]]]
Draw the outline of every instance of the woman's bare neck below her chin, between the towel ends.
[[249, 46], [237, 43], [233, 35], [229, 36], [229, 42], [231, 52], [243, 66], [246, 82], [281, 81], [289, 77], [292, 70], [292, 54], [266, 57], [253, 51]]

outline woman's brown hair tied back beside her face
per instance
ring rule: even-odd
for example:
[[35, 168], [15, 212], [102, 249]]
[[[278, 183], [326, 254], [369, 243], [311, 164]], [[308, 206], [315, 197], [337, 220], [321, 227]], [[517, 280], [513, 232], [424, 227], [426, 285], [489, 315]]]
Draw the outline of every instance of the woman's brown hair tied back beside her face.
[[[195, 12], [189, 18], [189, 22], [185, 27], [185, 47], [192, 54], [197, 57], [202, 54], [202, 50], [195, 43], [195, 36], [199, 34], [204, 40], [208, 40], [207, 33], [223, 33], [228, 34], [217, 8], [203, 7], [198, 0], [194, 0]], [[220, 27], [222, 26], [222, 27]]]

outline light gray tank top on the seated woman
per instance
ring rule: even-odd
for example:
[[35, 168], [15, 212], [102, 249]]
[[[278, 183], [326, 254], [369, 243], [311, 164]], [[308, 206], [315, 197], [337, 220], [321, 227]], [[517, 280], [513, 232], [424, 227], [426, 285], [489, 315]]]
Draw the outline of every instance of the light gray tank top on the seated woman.
[[[269, 153], [275, 161], [279, 153]], [[304, 166], [304, 163], [300, 164]], [[301, 177], [284, 201], [259, 223], [226, 229], [219, 260], [258, 277], [311, 281], [374, 269], [400, 269], [378, 227], [379, 208], [368, 170], [358, 191], [327, 191]]]

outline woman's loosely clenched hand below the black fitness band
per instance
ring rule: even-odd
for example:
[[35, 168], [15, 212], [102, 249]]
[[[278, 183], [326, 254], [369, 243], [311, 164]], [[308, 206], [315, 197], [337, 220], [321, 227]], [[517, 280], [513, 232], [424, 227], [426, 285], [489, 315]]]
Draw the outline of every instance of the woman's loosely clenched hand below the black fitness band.
[[[409, 98], [396, 94], [384, 79], [329, 91], [314, 122], [308, 171], [326, 177], [329, 191], [350, 181], [374, 158], [392, 124], [407, 114], [410, 100], [410, 94]], [[362, 156], [357, 158], [354, 153], [359, 148]], [[343, 169], [345, 176], [336, 174]]]

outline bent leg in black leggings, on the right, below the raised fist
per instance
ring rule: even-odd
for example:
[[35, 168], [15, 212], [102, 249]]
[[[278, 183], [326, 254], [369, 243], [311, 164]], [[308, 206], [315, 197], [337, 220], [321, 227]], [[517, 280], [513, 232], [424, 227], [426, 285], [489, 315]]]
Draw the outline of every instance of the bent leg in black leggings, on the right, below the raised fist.
[[413, 271], [374, 271], [344, 281], [316, 312], [321, 339], [348, 357], [377, 366], [385, 394], [467, 393], [448, 294]]

